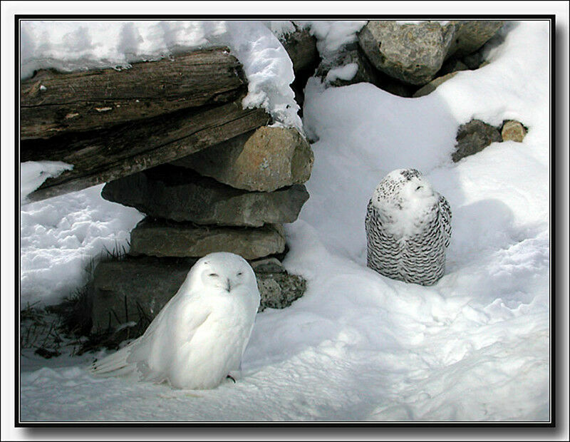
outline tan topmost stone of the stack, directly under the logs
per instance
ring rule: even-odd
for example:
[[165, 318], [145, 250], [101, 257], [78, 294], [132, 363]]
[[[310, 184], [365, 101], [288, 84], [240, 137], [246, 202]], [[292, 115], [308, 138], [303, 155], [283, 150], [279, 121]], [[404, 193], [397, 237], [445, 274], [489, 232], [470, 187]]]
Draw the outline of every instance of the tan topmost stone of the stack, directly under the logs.
[[238, 189], [271, 192], [305, 183], [313, 162], [311, 146], [297, 130], [264, 126], [172, 164]]

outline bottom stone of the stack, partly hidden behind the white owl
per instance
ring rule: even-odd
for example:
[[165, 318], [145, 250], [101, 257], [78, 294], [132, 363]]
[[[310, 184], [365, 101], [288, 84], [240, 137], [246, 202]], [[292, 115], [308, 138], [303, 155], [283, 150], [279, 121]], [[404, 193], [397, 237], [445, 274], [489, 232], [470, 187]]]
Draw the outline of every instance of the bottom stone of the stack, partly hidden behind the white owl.
[[[135, 322], [134, 331], [144, 332], [176, 294], [195, 262], [192, 258], [156, 257], [125, 257], [100, 262], [95, 268], [90, 310], [93, 331], [115, 329]], [[255, 262], [251, 264], [261, 294], [259, 312], [267, 307], [288, 307], [304, 293], [306, 281], [286, 272], [277, 259], [264, 259], [257, 266]]]

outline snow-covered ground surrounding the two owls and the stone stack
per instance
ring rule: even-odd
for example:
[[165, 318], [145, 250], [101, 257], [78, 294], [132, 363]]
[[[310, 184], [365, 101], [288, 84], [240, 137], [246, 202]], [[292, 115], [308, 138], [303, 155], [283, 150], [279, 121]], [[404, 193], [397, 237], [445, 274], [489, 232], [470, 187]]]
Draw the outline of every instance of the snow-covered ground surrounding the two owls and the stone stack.
[[[266, 34], [249, 26], [257, 34], [234, 28], [236, 38], [262, 35], [257, 41], [269, 47], [257, 53], [282, 56], [271, 27]], [[242, 379], [180, 391], [96, 379], [85, 370], [93, 355], [26, 353], [21, 419], [548, 421], [549, 37], [547, 22], [510, 23], [489, 44], [487, 66], [457, 73], [422, 98], [311, 79], [304, 106], [304, 130], [316, 140], [311, 197], [286, 225], [284, 261], [308, 289], [291, 307], [257, 315]], [[269, 102], [279, 94], [274, 102], [284, 102], [282, 83], [275, 91], [271, 81], [259, 83]], [[452, 163], [457, 127], [472, 118], [516, 119], [529, 133], [523, 143], [494, 143]], [[432, 287], [366, 267], [368, 199], [386, 173], [410, 167], [445, 195], [453, 215], [447, 270]], [[142, 215], [99, 192], [22, 206], [23, 303], [53, 302], [81, 281], [79, 257], [126, 244]]]

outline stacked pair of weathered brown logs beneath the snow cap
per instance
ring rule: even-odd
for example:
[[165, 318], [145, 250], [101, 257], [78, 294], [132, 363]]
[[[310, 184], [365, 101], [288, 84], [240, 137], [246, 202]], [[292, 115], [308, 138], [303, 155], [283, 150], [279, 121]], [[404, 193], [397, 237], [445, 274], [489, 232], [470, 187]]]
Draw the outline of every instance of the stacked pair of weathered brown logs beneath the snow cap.
[[269, 123], [263, 109], [242, 108], [246, 93], [241, 66], [223, 48], [127, 71], [38, 73], [21, 85], [20, 160], [63, 161], [73, 170], [28, 199], [116, 180]]

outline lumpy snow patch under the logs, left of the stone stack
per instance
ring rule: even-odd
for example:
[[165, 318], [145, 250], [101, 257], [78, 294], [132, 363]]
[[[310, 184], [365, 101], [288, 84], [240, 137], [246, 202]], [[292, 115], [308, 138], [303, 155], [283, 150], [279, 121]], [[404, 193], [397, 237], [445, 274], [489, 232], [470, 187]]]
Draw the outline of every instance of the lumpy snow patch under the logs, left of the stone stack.
[[103, 200], [102, 188], [21, 206], [21, 307], [61, 302], [86, 283], [91, 259], [128, 250], [130, 230], [144, 215]]

